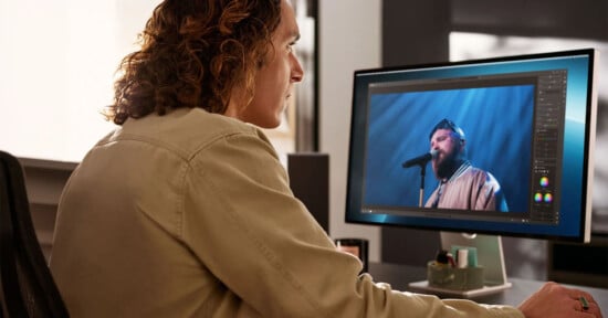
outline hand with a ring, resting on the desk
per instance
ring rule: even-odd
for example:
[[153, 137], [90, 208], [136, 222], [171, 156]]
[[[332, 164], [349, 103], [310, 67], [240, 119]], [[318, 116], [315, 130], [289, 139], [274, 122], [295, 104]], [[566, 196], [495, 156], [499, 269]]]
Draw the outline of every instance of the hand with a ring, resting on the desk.
[[[584, 308], [584, 303], [588, 304], [587, 309]], [[599, 306], [589, 293], [552, 282], [546, 283], [518, 308], [526, 318], [602, 318]]]

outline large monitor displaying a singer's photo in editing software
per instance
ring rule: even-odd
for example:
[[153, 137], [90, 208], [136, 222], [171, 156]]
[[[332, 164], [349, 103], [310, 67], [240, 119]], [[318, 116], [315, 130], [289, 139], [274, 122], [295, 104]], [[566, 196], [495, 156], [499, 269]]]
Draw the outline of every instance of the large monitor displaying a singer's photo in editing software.
[[346, 222], [589, 241], [597, 57], [356, 71]]

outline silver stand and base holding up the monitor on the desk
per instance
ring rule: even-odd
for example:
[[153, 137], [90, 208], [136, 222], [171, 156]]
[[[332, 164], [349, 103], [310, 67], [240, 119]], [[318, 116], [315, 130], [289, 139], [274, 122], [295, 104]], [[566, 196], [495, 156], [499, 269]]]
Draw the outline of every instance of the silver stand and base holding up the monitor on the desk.
[[484, 267], [484, 286], [475, 289], [449, 289], [431, 286], [428, 280], [423, 280], [409, 284], [409, 287], [413, 292], [437, 294], [440, 296], [474, 298], [511, 288], [512, 284], [506, 280], [501, 236], [450, 232], [441, 232], [440, 235], [441, 247], [445, 251], [450, 251], [453, 245], [476, 248], [478, 264]]

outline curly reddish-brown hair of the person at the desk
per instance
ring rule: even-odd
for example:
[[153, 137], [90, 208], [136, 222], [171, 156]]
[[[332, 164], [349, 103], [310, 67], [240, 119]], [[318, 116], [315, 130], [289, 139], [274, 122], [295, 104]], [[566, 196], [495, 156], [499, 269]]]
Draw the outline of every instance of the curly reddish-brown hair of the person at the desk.
[[281, 20], [281, 0], [165, 0], [125, 56], [105, 116], [129, 117], [200, 107], [223, 114], [243, 85], [253, 97], [258, 68]]

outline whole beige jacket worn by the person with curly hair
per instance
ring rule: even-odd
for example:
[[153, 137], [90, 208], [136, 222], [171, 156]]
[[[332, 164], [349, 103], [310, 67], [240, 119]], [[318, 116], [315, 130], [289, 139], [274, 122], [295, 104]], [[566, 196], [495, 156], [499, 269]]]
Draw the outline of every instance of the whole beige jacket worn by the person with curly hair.
[[66, 186], [51, 269], [72, 317], [522, 317], [358, 276], [256, 128], [201, 109], [127, 123]]

